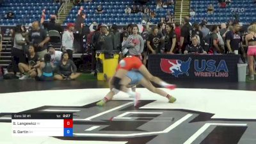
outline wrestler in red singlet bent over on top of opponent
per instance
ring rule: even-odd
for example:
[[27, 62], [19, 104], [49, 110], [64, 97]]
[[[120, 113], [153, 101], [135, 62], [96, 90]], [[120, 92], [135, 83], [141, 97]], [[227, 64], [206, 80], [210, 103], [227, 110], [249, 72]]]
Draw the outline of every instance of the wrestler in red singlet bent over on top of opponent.
[[165, 83], [163, 80], [159, 79], [159, 77], [152, 76], [152, 74], [148, 72], [145, 65], [143, 65], [142, 61], [136, 56], [127, 56], [119, 62], [116, 68], [116, 72], [110, 81], [110, 87], [113, 88], [115, 92], [121, 90], [131, 95], [131, 97], [135, 97], [134, 106], [138, 104], [140, 94], [128, 90], [125, 84], [122, 83], [122, 80], [130, 70], [138, 70], [146, 79], [148, 79], [148, 81], [153, 81], [154, 83], [159, 84], [165, 88], [169, 88], [171, 90], [176, 88], [175, 84]]

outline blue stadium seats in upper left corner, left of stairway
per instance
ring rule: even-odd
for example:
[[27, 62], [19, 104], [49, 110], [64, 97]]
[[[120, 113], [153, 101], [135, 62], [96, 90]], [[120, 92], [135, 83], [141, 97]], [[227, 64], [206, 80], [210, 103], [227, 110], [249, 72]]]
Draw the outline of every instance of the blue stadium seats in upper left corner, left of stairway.
[[[6, 0], [0, 7], [0, 25], [15, 26], [17, 24], [26, 24], [40, 20], [42, 10], [45, 9], [46, 19], [52, 14], [58, 13], [59, 3], [53, 0]], [[15, 14], [14, 19], [4, 19], [8, 12]]]

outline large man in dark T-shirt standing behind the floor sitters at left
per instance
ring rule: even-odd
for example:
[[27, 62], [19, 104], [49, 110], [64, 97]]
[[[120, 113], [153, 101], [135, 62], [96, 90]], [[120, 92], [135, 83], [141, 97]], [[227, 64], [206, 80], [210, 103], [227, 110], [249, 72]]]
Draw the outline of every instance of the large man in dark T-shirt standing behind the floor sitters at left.
[[35, 21], [28, 36], [29, 41], [35, 45], [36, 54], [38, 54], [40, 60], [44, 60], [44, 55], [47, 54], [47, 43], [50, 40], [47, 31], [41, 29], [39, 22]]

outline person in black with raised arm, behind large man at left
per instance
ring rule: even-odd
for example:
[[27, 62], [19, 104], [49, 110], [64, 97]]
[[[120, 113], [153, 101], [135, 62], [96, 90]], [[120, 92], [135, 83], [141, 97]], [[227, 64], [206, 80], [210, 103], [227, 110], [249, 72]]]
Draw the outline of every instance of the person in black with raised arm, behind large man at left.
[[40, 21], [40, 24], [44, 26], [47, 31], [55, 30], [58, 31], [59, 33], [63, 33], [63, 28], [60, 26], [60, 24], [56, 24], [56, 15], [51, 15], [51, 18], [49, 22], [45, 21], [45, 11], [42, 12], [42, 18]]

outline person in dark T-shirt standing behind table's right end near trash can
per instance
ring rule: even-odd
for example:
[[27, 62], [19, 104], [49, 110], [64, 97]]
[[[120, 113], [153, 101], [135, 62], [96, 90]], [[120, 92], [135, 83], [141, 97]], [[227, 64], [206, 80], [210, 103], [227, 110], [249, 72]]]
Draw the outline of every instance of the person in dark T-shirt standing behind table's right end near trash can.
[[239, 35], [240, 26], [239, 24], [233, 25], [233, 31], [226, 33], [226, 42], [228, 52], [234, 52], [239, 50], [239, 46], [242, 42], [242, 36]]

